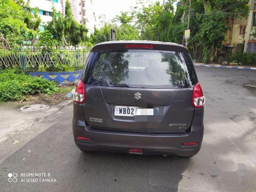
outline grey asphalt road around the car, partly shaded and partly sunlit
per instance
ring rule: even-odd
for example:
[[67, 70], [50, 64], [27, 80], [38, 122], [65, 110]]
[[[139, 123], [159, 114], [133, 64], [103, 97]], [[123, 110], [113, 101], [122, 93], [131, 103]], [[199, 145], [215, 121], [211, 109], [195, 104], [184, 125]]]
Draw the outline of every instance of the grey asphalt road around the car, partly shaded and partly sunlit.
[[[243, 87], [256, 83], [256, 71], [205, 67], [196, 71], [206, 105], [205, 136], [195, 157], [84, 154], [73, 142], [69, 104], [35, 123], [45, 131], [2, 159], [0, 191], [256, 191], [256, 94]], [[6, 143], [0, 152], [7, 150]], [[226, 180], [214, 177], [216, 164], [227, 167], [238, 158], [247, 159], [241, 177], [230, 179], [233, 172]], [[17, 182], [8, 182], [8, 173], [17, 173]], [[22, 177], [22, 173], [47, 176]], [[33, 182], [45, 178], [56, 182]]]

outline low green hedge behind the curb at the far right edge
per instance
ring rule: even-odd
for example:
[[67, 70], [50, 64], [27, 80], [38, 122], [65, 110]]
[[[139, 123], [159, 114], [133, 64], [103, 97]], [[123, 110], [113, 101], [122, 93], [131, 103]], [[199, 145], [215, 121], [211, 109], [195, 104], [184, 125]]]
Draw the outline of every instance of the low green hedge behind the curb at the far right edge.
[[228, 61], [242, 66], [256, 66], [256, 53], [234, 53], [228, 56]]

